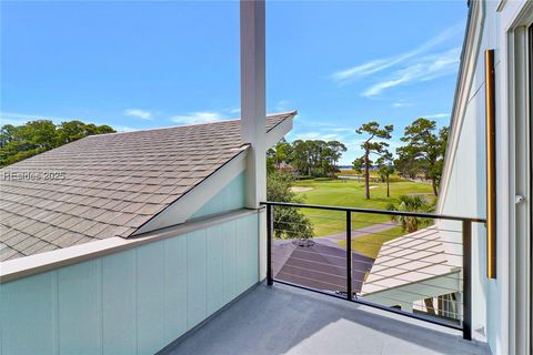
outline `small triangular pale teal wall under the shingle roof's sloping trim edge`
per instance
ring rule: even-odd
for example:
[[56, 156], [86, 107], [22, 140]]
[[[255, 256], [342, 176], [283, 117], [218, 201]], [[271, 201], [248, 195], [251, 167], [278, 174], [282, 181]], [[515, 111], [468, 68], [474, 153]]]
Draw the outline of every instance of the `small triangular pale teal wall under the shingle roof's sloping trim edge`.
[[244, 173], [240, 173], [208, 203], [198, 210], [191, 219], [244, 207]]

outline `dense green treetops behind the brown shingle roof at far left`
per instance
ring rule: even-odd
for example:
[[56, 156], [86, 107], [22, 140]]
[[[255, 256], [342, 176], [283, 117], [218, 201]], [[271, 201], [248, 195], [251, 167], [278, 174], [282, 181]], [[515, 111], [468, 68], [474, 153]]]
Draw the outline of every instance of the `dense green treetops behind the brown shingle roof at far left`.
[[0, 129], [0, 168], [88, 135], [114, 132], [109, 125], [95, 125], [78, 120], [58, 125], [49, 120], [29, 121], [17, 126], [4, 124]]

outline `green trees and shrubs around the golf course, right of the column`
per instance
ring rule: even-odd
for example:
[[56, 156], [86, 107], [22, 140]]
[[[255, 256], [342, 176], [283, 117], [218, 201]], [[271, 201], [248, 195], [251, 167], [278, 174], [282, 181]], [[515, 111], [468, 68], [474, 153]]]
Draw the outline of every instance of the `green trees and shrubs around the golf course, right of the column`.
[[[436, 122], [420, 118], [405, 126], [400, 139], [404, 145], [395, 150], [396, 158], [390, 151], [394, 126], [371, 121], [362, 124], [355, 133], [363, 138], [362, 154], [352, 163], [352, 169], [364, 175], [365, 197], [370, 199], [370, 172], [375, 171], [386, 182], [386, 195], [390, 196], [389, 178], [393, 173], [408, 179], [424, 176], [431, 180], [433, 193], [438, 195], [446, 149], [446, 126], [438, 130]], [[304, 197], [291, 190], [296, 175], [312, 178], [332, 176], [339, 171], [338, 162], [346, 146], [339, 141], [296, 140], [292, 143], [280, 141], [266, 154], [266, 199], [278, 202], [303, 203]], [[289, 170], [289, 171], [288, 171]], [[421, 196], [400, 196], [400, 203], [391, 203], [388, 210], [409, 212], [432, 212], [433, 205]], [[401, 216], [393, 221], [403, 230], [414, 232], [431, 223], [430, 220]], [[274, 236], [282, 239], [313, 237], [311, 220], [298, 209], [275, 207]]]

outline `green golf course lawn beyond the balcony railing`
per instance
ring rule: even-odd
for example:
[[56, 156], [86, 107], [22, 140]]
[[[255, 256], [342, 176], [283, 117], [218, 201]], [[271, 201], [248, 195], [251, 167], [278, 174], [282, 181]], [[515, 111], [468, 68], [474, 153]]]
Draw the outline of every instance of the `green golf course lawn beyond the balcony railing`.
[[[430, 184], [396, 181], [390, 185], [391, 196], [386, 197], [385, 183], [371, 183], [371, 200], [364, 199], [364, 183], [353, 180], [302, 180], [293, 183], [293, 186], [311, 187], [312, 190], [299, 192], [305, 196], [305, 203], [333, 206], [350, 206], [374, 210], [386, 210], [390, 203], [396, 204], [399, 196], [410, 193], [432, 193]], [[431, 197], [433, 199], [433, 197]], [[302, 209], [313, 223], [315, 236], [345, 232], [345, 213], [338, 211], [324, 211]], [[379, 222], [388, 222], [390, 216], [380, 214], [352, 213], [352, 229], [370, 226]], [[381, 244], [399, 235], [403, 235], [401, 227], [393, 227], [376, 234], [359, 236], [352, 242], [352, 247], [370, 257], [375, 257]], [[345, 243], [345, 242], [344, 242]]]

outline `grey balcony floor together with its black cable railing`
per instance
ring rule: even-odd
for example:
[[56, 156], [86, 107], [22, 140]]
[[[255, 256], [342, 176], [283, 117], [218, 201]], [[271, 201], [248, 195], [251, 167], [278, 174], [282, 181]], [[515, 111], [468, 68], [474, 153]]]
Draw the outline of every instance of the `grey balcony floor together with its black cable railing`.
[[[490, 354], [485, 343], [471, 341], [472, 227], [483, 220], [265, 205], [266, 283], [167, 347], [165, 354]], [[292, 237], [286, 222], [280, 222], [290, 209], [331, 212], [321, 214], [330, 227], [336, 213], [344, 233]], [[362, 236], [383, 235], [384, 229], [370, 216], [376, 214], [425, 219], [428, 226], [393, 236], [373, 258], [358, 248]], [[352, 227], [369, 220], [373, 224], [362, 229], [364, 235]]]

